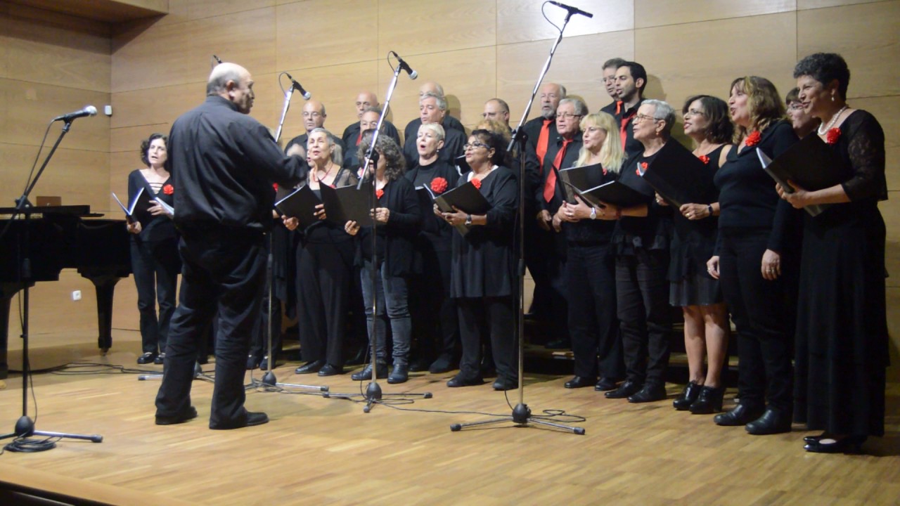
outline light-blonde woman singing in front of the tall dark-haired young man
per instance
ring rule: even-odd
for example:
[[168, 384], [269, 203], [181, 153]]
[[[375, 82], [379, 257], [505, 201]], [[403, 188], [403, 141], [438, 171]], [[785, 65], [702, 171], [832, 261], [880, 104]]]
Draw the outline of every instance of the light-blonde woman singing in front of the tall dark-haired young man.
[[[575, 167], [593, 167], [596, 185], [616, 179], [625, 161], [616, 119], [608, 113], [588, 114], [580, 128], [583, 143]], [[598, 220], [599, 209], [575, 199], [556, 212], [568, 243], [569, 333], [575, 356], [575, 377], [565, 387], [607, 391], [625, 375], [616, 319], [616, 255], [610, 247], [616, 222]]]

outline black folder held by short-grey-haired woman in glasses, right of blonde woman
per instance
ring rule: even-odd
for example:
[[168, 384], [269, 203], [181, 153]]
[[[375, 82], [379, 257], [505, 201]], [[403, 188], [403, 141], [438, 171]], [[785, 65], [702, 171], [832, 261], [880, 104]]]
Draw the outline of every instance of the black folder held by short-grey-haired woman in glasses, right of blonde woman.
[[685, 203], [709, 204], [716, 200], [712, 167], [671, 139], [656, 153], [641, 176], [677, 209]]

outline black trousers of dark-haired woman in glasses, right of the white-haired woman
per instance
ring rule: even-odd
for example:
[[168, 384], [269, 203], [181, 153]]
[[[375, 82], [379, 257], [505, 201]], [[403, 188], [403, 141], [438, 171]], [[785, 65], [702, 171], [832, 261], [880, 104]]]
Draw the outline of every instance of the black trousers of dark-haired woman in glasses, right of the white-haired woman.
[[516, 316], [512, 297], [456, 299], [463, 357], [459, 373], [467, 378], [482, 377], [482, 329], [491, 334], [491, 350], [498, 379], [518, 382], [516, 365]]

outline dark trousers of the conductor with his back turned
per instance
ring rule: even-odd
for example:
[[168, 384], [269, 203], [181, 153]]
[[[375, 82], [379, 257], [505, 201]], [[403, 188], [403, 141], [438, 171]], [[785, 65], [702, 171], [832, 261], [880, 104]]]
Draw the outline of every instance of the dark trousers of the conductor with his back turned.
[[244, 374], [250, 336], [259, 322], [266, 269], [263, 235], [223, 227], [183, 228], [178, 308], [166, 346], [157, 415], [179, 416], [191, 405], [193, 364], [204, 330], [218, 311], [210, 427], [247, 420]]

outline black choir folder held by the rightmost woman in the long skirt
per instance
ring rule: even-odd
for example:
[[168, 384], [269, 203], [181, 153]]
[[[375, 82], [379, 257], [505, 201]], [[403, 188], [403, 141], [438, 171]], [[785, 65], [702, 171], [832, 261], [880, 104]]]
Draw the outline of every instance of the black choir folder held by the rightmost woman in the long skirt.
[[[756, 149], [756, 154], [762, 168], [788, 194], [794, 193], [788, 181], [814, 192], [839, 185], [846, 179], [841, 158], [818, 135], [807, 135], [774, 160], [759, 148]], [[831, 204], [824, 203], [807, 205], [804, 209], [811, 216], [816, 216], [830, 206]]]

